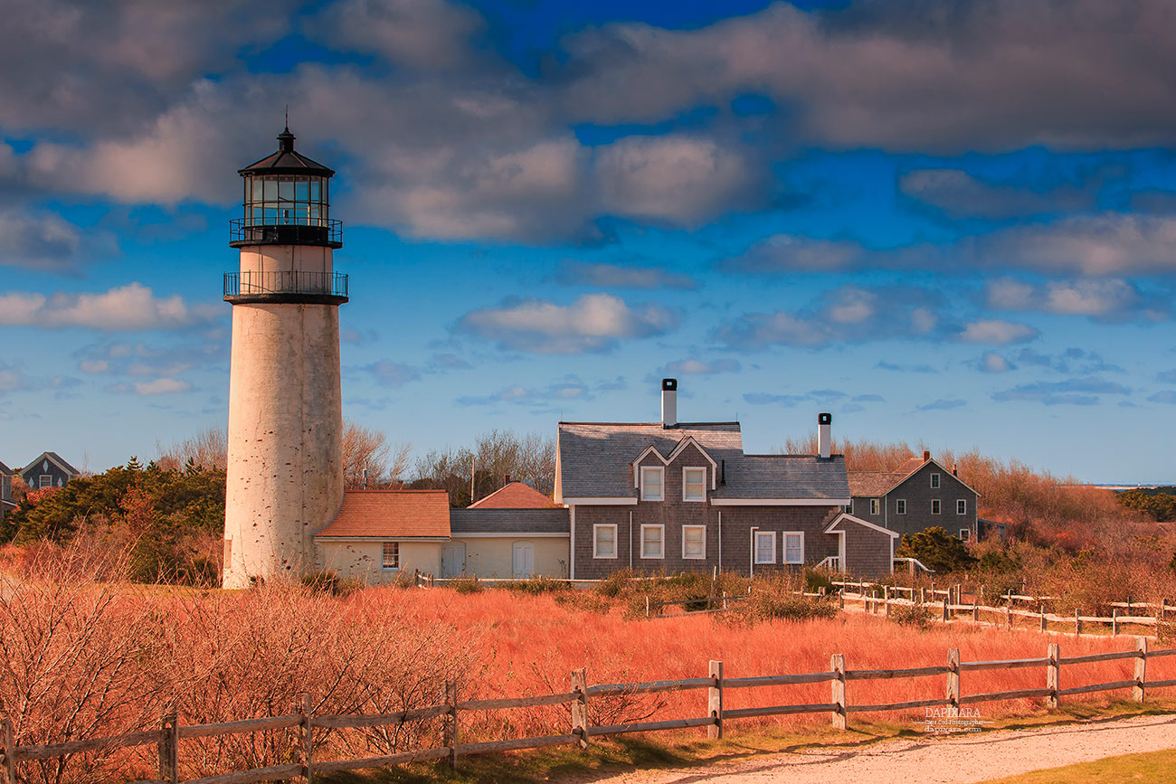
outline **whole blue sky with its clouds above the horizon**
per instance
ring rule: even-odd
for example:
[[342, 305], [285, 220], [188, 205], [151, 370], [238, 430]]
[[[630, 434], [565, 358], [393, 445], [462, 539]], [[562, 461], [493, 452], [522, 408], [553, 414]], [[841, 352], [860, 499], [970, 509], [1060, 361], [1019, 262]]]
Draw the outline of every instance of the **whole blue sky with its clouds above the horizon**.
[[82, 4], [0, 29], [0, 460], [227, 417], [236, 169], [335, 168], [345, 415], [1172, 481], [1163, 0]]

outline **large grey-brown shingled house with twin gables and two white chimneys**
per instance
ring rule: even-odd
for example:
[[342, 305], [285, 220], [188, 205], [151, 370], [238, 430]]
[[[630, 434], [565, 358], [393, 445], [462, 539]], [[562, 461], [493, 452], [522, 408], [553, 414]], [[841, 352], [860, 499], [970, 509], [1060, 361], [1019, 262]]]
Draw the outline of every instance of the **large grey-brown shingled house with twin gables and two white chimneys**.
[[555, 501], [569, 515], [569, 576], [806, 564], [889, 572], [898, 534], [844, 511], [831, 421], [818, 417], [816, 455], [747, 455], [739, 422], [679, 422], [677, 381], [664, 378], [661, 422], [561, 422]]

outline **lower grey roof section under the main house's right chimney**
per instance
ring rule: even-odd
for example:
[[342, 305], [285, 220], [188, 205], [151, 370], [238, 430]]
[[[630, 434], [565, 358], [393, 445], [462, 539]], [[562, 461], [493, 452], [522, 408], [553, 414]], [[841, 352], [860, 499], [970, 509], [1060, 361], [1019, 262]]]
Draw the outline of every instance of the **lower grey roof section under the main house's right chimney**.
[[741, 455], [728, 458], [726, 481], [716, 498], [829, 498], [849, 497], [846, 458], [833, 455]]

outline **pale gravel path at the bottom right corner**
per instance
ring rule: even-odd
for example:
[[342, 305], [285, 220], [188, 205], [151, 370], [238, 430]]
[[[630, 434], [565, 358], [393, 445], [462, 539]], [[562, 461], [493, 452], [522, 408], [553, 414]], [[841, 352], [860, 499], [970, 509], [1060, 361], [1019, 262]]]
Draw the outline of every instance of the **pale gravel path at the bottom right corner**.
[[1176, 748], [1176, 716], [1096, 719], [1042, 729], [994, 730], [796, 752], [728, 757], [707, 765], [635, 771], [596, 784], [963, 784], [1116, 755]]

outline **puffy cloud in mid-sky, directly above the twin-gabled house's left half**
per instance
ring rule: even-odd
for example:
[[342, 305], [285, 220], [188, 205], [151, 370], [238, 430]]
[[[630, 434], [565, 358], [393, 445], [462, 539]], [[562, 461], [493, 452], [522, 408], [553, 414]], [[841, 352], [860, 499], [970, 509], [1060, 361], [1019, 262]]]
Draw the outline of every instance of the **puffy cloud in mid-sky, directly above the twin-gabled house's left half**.
[[620, 339], [661, 335], [676, 323], [676, 315], [659, 306], [630, 307], [610, 294], [586, 294], [567, 306], [508, 301], [462, 316], [457, 329], [496, 341], [503, 349], [581, 354], [610, 350]]

